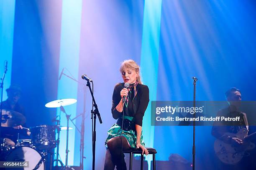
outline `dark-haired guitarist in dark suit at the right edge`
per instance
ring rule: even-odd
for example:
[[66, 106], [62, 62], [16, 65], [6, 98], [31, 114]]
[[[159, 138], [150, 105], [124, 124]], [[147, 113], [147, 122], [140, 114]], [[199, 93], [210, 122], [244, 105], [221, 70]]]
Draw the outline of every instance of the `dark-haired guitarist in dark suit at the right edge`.
[[[224, 117], [240, 117], [239, 121], [218, 121], [214, 122], [212, 126], [212, 135], [222, 140], [224, 143], [228, 143], [231, 145], [242, 145], [243, 140], [237, 137], [230, 137], [225, 133], [238, 133], [239, 130], [246, 128], [248, 130], [248, 121], [246, 117], [246, 113], [239, 111], [239, 107], [241, 106], [241, 91], [236, 88], [230, 88], [226, 93], [226, 100], [228, 102], [228, 107], [222, 110], [219, 110], [217, 116], [224, 116]], [[248, 133], [248, 132], [247, 132]], [[246, 134], [247, 134], [246, 133]], [[246, 166], [248, 165], [245, 163], [246, 160], [242, 160], [240, 163], [236, 165], [225, 165], [224, 163], [220, 163], [219, 169], [247, 169]], [[250, 166], [250, 165], [249, 165]]]

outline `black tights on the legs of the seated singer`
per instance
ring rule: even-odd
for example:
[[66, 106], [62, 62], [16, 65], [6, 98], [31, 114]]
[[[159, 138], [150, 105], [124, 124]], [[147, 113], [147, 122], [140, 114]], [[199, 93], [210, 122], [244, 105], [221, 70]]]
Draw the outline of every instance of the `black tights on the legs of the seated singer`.
[[[123, 143], [123, 150], [128, 150], [129, 144], [124, 136], [118, 136], [108, 141], [108, 149], [105, 157], [104, 170], [126, 170], [124, 154], [121, 155], [121, 139]], [[123, 165], [122, 165], [123, 162]]]

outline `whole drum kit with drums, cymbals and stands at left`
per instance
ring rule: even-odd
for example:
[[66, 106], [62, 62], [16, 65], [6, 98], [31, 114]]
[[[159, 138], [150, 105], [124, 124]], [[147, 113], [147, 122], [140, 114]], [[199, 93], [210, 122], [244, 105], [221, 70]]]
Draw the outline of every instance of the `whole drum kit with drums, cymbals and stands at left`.
[[[69, 127], [70, 115], [67, 115], [63, 106], [72, 105], [77, 100], [75, 99], [62, 99], [48, 102], [46, 107], [60, 107], [61, 111], [66, 114], [67, 127], [60, 126], [60, 120], [56, 121], [56, 125], [38, 125], [31, 128], [23, 129], [28, 130], [30, 139], [18, 139], [15, 146], [10, 147], [7, 145], [6, 139], [0, 141], [0, 155], [1, 160], [4, 161], [29, 161], [29, 168], [24, 170], [46, 170], [46, 156], [51, 155], [51, 160], [54, 148], [57, 148], [56, 160], [51, 161], [50, 169], [52, 169], [53, 163], [56, 161], [56, 165], [60, 162], [63, 169], [68, 169], [67, 157], [68, 157], [68, 133], [72, 130]], [[23, 125], [26, 122], [26, 118], [23, 114], [12, 110], [2, 110], [2, 122], [1, 127], [15, 127]], [[59, 160], [59, 134], [61, 130], [67, 130], [67, 146], [66, 146], [66, 164]], [[57, 139], [56, 137], [57, 133]]]

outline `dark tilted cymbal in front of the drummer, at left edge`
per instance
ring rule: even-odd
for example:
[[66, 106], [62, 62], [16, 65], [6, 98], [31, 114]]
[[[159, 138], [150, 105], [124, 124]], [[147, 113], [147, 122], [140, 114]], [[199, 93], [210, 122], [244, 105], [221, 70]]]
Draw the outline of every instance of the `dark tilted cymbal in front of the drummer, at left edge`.
[[15, 112], [13, 110], [2, 110], [2, 120], [1, 126], [3, 127], [13, 127], [18, 125], [23, 125], [26, 123], [26, 117], [20, 112]]

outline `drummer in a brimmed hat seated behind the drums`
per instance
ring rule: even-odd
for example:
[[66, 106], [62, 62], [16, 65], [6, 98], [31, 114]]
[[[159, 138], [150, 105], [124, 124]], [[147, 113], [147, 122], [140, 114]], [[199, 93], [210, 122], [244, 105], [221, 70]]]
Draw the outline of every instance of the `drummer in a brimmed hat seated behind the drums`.
[[[17, 85], [10, 85], [10, 87], [6, 91], [7, 91], [8, 99], [3, 101], [2, 109], [13, 110], [24, 115], [24, 108], [19, 103], [20, 95], [21, 95], [20, 87]], [[23, 126], [26, 127], [26, 125], [23, 125]], [[21, 130], [23, 129], [23, 126], [18, 125], [10, 128], [1, 127], [2, 130], [0, 135], [1, 135], [1, 138], [5, 138], [6, 146], [8, 147], [15, 146], [18, 133], [21, 133], [25, 136], [29, 135], [29, 132], [27, 130]]]

